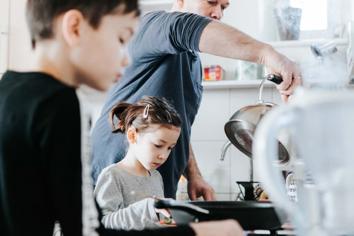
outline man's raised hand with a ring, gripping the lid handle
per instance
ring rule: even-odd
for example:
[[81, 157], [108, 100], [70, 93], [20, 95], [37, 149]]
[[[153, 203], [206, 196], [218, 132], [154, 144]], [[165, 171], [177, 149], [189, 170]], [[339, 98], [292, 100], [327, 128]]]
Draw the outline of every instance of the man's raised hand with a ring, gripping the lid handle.
[[291, 61], [283, 54], [275, 51], [274, 48], [268, 47], [263, 56], [262, 64], [267, 67], [268, 74], [275, 74], [283, 78], [283, 82], [276, 86], [279, 90], [283, 102], [287, 102], [290, 95], [294, 93], [296, 86], [301, 86], [301, 71], [299, 64]]

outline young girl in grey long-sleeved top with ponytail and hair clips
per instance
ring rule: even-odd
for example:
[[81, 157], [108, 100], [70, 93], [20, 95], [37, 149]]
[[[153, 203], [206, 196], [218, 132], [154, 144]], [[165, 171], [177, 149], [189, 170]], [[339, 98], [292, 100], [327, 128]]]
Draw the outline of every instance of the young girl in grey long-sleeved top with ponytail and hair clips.
[[[114, 125], [114, 117], [118, 125]], [[131, 191], [164, 197], [161, 166], [176, 145], [181, 118], [164, 99], [143, 97], [139, 103], [119, 103], [110, 113], [114, 133], [125, 133], [129, 142], [126, 156], [103, 169], [94, 191], [102, 209], [105, 228], [141, 230], [158, 228], [158, 213], [169, 217], [166, 209], [154, 208], [153, 198], [131, 195]]]

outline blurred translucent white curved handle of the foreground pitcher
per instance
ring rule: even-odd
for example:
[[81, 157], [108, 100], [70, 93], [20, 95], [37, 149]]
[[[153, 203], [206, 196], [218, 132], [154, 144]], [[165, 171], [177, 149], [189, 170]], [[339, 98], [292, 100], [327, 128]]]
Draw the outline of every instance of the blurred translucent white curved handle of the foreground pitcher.
[[[253, 136], [252, 154], [256, 160], [256, 168], [260, 174], [262, 182], [266, 186], [266, 191], [271, 196], [274, 203], [281, 209], [290, 213], [297, 225], [305, 225], [304, 215], [296, 204], [291, 204], [285, 188], [285, 181], [281, 181], [279, 171], [273, 166], [278, 159], [278, 141], [276, 139], [279, 131], [284, 127], [289, 127], [294, 120], [293, 108], [289, 106], [276, 107], [267, 112], [257, 125]], [[278, 211], [278, 215], [284, 218], [283, 212]], [[301, 227], [298, 229], [301, 231]], [[299, 232], [299, 235], [303, 235]]]

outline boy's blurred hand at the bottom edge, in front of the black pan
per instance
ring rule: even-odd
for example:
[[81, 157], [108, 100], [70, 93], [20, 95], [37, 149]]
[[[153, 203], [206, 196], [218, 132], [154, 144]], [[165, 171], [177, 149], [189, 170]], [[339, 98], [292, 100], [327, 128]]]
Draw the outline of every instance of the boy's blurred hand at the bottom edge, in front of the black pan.
[[191, 223], [196, 236], [244, 236], [245, 231], [236, 220]]

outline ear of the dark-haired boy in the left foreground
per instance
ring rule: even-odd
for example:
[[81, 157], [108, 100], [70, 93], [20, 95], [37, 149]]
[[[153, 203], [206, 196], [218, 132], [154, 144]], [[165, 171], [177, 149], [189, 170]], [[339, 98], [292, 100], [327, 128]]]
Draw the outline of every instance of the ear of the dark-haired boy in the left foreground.
[[84, 16], [78, 10], [69, 10], [64, 14], [62, 33], [65, 42], [72, 47], [80, 42], [80, 27], [84, 22]]

